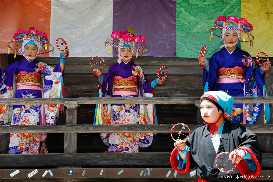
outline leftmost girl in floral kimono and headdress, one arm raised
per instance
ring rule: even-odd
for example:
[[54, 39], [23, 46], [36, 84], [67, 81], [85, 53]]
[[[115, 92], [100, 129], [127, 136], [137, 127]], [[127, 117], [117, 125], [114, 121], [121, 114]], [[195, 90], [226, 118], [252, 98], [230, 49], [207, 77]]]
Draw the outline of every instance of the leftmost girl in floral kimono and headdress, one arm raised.
[[[16, 49], [12, 48], [12, 42], [17, 43]], [[4, 70], [0, 69], [1, 98], [61, 97], [63, 89], [62, 72], [65, 67], [65, 59], [61, 59], [55, 68], [35, 59], [38, 54], [50, 52], [49, 46], [52, 45], [49, 44], [45, 32], [38, 32], [35, 29], [29, 29], [28, 32], [22, 29], [18, 30], [8, 44], [8, 53], [10, 49], [13, 49], [16, 54], [19, 43], [22, 43], [19, 52], [25, 58], [12, 63]], [[42, 49], [43, 52], [41, 52]], [[61, 58], [64, 58], [67, 52], [68, 49], [62, 51]], [[41, 78], [42, 88], [40, 87]], [[59, 117], [59, 107], [59, 105], [38, 104], [1, 105], [0, 124], [56, 124]], [[39, 153], [40, 141], [45, 140], [45, 138], [46, 133], [11, 133], [8, 153]], [[47, 152], [44, 142], [41, 150]]]

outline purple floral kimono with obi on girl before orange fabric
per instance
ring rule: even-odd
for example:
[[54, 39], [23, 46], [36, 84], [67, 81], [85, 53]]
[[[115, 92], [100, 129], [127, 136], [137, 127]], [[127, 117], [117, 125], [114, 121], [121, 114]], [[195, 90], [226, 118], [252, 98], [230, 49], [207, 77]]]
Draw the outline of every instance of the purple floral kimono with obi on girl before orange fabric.
[[[28, 62], [24, 58], [12, 63], [4, 70], [0, 70], [0, 73], [1, 98], [52, 98], [62, 96], [63, 83], [59, 64], [56, 68], [52, 68], [36, 59]], [[39, 77], [42, 78], [43, 89], [37, 83], [40, 81]], [[35, 80], [36, 78], [38, 81]], [[26, 82], [26, 80], [30, 82]], [[56, 124], [59, 117], [59, 107], [59, 105], [38, 104], [1, 105], [0, 124]], [[46, 134], [42, 133], [11, 133], [8, 153], [39, 153], [40, 141], [45, 138]]]

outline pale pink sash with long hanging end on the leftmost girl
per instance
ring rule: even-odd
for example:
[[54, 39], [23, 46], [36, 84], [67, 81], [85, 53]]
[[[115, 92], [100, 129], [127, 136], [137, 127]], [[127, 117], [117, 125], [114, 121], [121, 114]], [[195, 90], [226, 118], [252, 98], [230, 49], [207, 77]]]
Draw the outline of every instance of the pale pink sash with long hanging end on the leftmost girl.
[[[42, 93], [42, 98], [44, 97], [44, 89], [38, 86], [28, 86], [28, 85], [19, 85], [16, 87], [17, 90], [40, 90]], [[40, 115], [40, 125], [46, 125], [45, 117], [45, 106], [41, 105], [41, 115]], [[41, 141], [46, 139], [46, 133], [40, 133]]]

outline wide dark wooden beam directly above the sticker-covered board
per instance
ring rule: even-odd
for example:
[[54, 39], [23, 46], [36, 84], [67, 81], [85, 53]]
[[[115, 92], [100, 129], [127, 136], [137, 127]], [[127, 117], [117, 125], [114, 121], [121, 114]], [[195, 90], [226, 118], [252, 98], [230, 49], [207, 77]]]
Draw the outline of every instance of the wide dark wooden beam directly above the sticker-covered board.
[[[1, 168], [78, 168], [96, 166], [170, 166], [170, 152], [163, 153], [48, 153], [0, 155]], [[272, 153], [264, 153], [262, 168], [273, 166]], [[130, 160], [129, 160], [130, 159]], [[156, 160], [155, 160], [156, 159]]]

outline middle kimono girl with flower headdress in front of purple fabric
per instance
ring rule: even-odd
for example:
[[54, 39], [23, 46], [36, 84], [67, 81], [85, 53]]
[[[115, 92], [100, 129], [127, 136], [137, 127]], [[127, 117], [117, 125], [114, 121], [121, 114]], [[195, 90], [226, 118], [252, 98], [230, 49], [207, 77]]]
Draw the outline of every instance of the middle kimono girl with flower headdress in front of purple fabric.
[[[130, 31], [130, 30], [129, 30]], [[165, 83], [165, 78], [148, 82], [140, 66], [134, 64], [133, 52], [140, 49], [145, 38], [134, 32], [113, 32], [106, 44], [118, 47], [118, 62], [111, 65], [107, 74], [93, 71], [99, 79], [100, 97], [153, 97], [156, 85]], [[137, 52], [137, 54], [138, 54]], [[103, 104], [97, 105], [94, 124], [156, 124], [154, 104]], [[138, 147], [148, 147], [153, 133], [101, 133], [101, 139], [109, 146], [108, 152], [138, 152]]]

